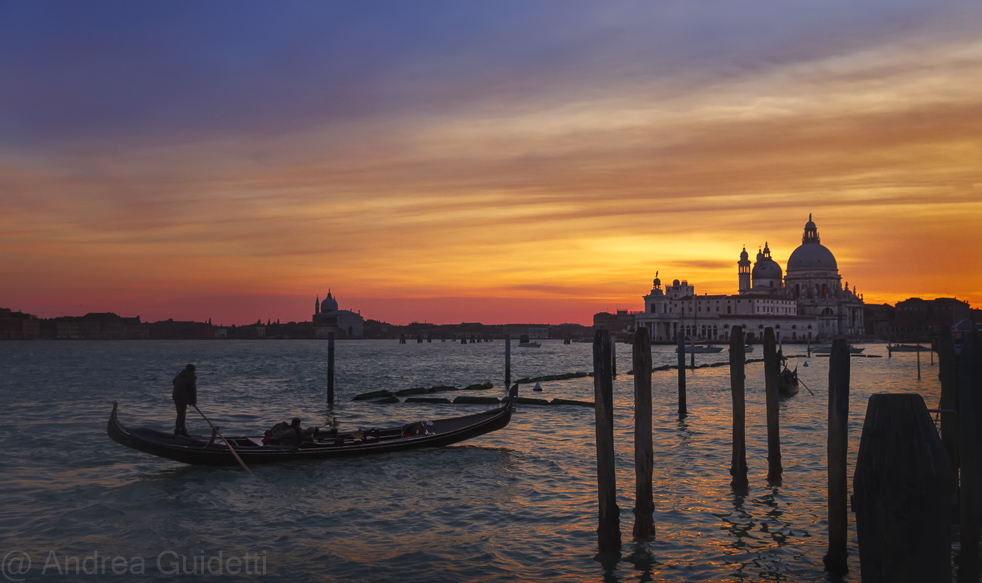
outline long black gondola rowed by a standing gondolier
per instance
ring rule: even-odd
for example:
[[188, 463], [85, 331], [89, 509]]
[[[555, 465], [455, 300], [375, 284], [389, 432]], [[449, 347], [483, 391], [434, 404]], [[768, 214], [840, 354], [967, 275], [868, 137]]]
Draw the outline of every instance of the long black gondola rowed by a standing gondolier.
[[[263, 436], [225, 439], [247, 465], [294, 460], [321, 460], [441, 447], [473, 439], [508, 425], [514, 411], [513, 392], [501, 407], [449, 419], [416, 421], [396, 427], [362, 429], [348, 433], [319, 431], [313, 441], [291, 445], [263, 443]], [[184, 437], [144, 427], [127, 428], [117, 416], [119, 404], [113, 401], [106, 432], [109, 437], [135, 450], [162, 458], [201, 466], [238, 464], [222, 438], [192, 435]], [[213, 432], [214, 433], [214, 432]]]

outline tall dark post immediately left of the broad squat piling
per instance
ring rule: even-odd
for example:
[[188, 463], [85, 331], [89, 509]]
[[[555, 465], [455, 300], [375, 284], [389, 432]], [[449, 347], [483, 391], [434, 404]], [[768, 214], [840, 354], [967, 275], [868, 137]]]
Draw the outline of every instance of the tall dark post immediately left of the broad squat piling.
[[849, 446], [849, 347], [844, 338], [832, 342], [829, 354], [829, 552], [825, 570], [845, 574], [848, 525], [848, 480], [846, 452]]

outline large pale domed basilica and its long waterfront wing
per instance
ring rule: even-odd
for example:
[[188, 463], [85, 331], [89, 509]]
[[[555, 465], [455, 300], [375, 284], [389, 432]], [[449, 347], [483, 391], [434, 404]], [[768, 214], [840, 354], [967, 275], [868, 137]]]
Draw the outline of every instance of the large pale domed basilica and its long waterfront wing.
[[689, 340], [728, 342], [742, 326], [748, 342], [760, 342], [774, 328], [778, 342], [825, 342], [863, 333], [863, 299], [843, 286], [835, 256], [821, 244], [811, 215], [801, 245], [788, 258], [787, 273], [771, 257], [768, 244], [751, 265], [746, 248], [737, 262], [737, 293], [696, 295], [687, 281], [662, 288], [655, 274], [644, 311], [635, 316], [653, 342]]

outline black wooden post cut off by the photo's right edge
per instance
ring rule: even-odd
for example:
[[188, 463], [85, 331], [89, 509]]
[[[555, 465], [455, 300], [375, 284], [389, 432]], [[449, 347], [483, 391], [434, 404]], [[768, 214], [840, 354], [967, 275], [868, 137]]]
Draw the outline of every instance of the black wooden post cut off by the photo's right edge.
[[982, 337], [968, 335], [958, 358], [958, 456], [961, 462], [959, 498], [958, 582], [979, 580], [979, 522], [982, 518]]

